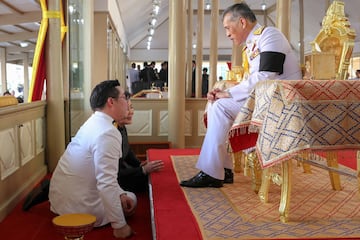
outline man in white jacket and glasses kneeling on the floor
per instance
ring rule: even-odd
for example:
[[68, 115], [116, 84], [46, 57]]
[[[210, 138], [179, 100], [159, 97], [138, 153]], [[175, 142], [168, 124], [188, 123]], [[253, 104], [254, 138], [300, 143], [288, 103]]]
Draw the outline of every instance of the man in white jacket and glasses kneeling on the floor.
[[136, 208], [136, 196], [117, 181], [122, 138], [114, 122], [128, 115], [128, 97], [117, 80], [98, 84], [90, 96], [94, 113], [67, 146], [50, 181], [51, 211], [89, 213], [95, 226], [111, 223], [115, 237], [129, 237], [125, 216]]

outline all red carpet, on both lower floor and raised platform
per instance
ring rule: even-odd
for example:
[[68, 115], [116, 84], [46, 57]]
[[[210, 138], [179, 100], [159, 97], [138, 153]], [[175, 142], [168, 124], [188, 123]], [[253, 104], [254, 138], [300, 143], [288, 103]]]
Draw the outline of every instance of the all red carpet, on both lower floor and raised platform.
[[[171, 155], [197, 155], [199, 149], [150, 149], [149, 160], [162, 159], [165, 169], [151, 177], [154, 224], [156, 239], [202, 239], [194, 215], [179, 186], [172, 167]], [[344, 151], [339, 154], [339, 163], [356, 168], [356, 154]], [[12, 240], [61, 240], [63, 237], [55, 232], [49, 210], [49, 203], [42, 203], [28, 212], [21, 209], [22, 202], [0, 223], [1, 239]], [[128, 223], [137, 233], [130, 239], [153, 239], [151, 232], [150, 203], [147, 194], [138, 195], [138, 209]], [[85, 240], [115, 239], [110, 226], [92, 230]]]

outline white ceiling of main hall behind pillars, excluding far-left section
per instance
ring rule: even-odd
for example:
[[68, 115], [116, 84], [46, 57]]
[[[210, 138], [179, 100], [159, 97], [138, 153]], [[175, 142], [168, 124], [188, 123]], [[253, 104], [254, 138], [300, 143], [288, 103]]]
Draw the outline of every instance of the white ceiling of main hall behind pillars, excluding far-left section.
[[[197, 10], [198, 0], [192, 0], [192, 6]], [[207, 2], [207, 0], [205, 0]], [[211, 1], [210, 1], [211, 2]], [[275, 25], [276, 22], [276, 0], [248, 0], [246, 1], [250, 8], [256, 11], [258, 21], [264, 23], [264, 12], [261, 10], [261, 4], [266, 3], [268, 10], [266, 12], [268, 18], [267, 25]], [[318, 34], [322, 19], [326, 13], [328, 2], [331, 0], [303, 0], [304, 2], [304, 48], [305, 52], [310, 51], [310, 42], [314, 40]], [[152, 0], [143, 0], [141, 4], [134, 5], [134, 1], [118, 0], [120, 7], [121, 18], [124, 22], [126, 35], [129, 41], [130, 49], [146, 49], [148, 27], [150, 14], [152, 12]], [[220, 12], [226, 7], [234, 3], [234, 0], [219, 0]], [[351, 26], [358, 33], [356, 37], [355, 50], [360, 52], [360, 1], [359, 0], [344, 0], [345, 13], [349, 17]], [[152, 50], [166, 50], [168, 48], [168, 28], [169, 28], [169, 0], [161, 0], [161, 10], [156, 24], [155, 34], [151, 43]], [[295, 50], [299, 50], [299, 0], [292, 0], [291, 13], [291, 44]], [[196, 32], [197, 16], [193, 16], [193, 29]], [[225, 31], [219, 18], [218, 28], [218, 49], [231, 49], [232, 42], [226, 38]], [[196, 34], [196, 33], [195, 33]], [[210, 12], [205, 11], [204, 17], [204, 32], [203, 32], [203, 47], [205, 49], [210, 46]], [[194, 35], [194, 33], [193, 33]], [[134, 59], [141, 60], [141, 59]]]

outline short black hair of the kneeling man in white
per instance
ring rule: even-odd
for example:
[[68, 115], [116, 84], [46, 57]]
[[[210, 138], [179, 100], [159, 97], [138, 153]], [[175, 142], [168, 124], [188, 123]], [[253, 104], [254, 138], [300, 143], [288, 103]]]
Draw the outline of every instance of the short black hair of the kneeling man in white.
[[118, 98], [120, 86], [118, 80], [105, 80], [94, 87], [90, 95], [90, 106], [93, 111], [102, 109], [109, 97]]

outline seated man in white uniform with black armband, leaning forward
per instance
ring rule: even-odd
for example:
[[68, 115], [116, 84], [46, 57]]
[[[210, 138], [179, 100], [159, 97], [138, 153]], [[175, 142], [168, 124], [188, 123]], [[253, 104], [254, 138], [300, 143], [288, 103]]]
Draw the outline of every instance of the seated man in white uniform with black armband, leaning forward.
[[249, 75], [225, 91], [207, 94], [207, 132], [196, 167], [200, 172], [180, 182], [184, 187], [222, 187], [233, 183], [233, 163], [227, 153], [228, 132], [255, 84], [270, 79], [301, 79], [297, 57], [285, 36], [274, 27], [262, 27], [249, 6], [238, 3], [223, 13], [226, 35], [236, 45], [246, 44]]

